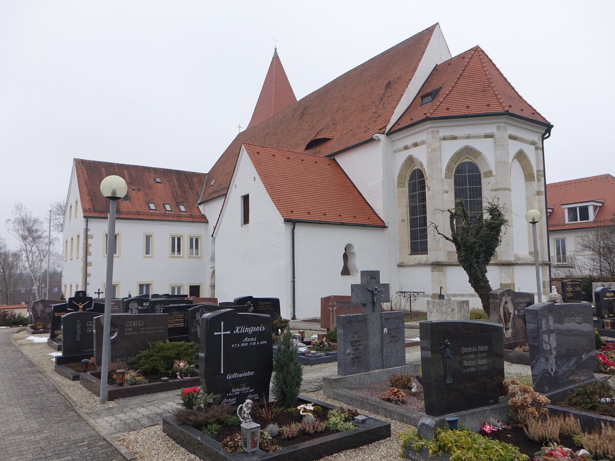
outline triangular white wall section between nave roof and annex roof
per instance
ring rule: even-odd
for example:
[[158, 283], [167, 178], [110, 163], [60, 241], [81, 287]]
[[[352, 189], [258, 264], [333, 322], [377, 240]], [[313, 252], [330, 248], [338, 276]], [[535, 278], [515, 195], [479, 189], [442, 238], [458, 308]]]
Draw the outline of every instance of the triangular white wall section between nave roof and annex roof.
[[351, 151], [335, 156], [352, 183], [365, 200], [383, 217], [383, 160], [381, 146], [372, 141]]

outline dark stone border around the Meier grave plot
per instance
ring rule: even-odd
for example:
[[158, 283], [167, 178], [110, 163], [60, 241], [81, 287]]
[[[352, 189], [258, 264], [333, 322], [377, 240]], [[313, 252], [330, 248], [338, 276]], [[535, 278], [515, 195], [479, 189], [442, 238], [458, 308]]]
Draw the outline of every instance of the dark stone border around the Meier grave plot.
[[[92, 392], [94, 395], [100, 396], [100, 371], [81, 373], [79, 384]], [[156, 392], [165, 392], [167, 390], [175, 390], [192, 386], [200, 386], [199, 376], [192, 376], [186, 379], [173, 379], [167, 382], [148, 382], [148, 384], [124, 384], [122, 386], [112, 384], [107, 387], [107, 400], [133, 397], [135, 395], [153, 394]]]

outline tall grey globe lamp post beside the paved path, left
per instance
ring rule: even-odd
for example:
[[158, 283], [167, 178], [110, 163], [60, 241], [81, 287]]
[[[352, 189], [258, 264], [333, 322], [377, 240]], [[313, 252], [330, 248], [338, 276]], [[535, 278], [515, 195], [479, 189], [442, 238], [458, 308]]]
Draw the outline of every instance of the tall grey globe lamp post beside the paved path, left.
[[[100, 183], [100, 193], [109, 199], [109, 223], [107, 229], [107, 277], [106, 286], [113, 286], [113, 255], [116, 252], [115, 244], [115, 217], [117, 200], [128, 192], [124, 178], [120, 176], [107, 176]], [[103, 317], [103, 363], [100, 364], [100, 403], [107, 401], [107, 379], [109, 372], [109, 349], [111, 349], [111, 290], [105, 288], [105, 315]]]

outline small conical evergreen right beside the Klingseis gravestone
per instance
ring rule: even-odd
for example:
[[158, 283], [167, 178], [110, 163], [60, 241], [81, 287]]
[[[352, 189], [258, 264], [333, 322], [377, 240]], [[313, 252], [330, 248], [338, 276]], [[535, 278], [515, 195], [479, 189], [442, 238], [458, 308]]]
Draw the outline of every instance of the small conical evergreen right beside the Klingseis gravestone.
[[277, 353], [273, 359], [276, 376], [273, 379], [274, 392], [282, 408], [292, 408], [299, 395], [303, 372], [296, 348], [290, 344], [290, 331], [276, 339]]

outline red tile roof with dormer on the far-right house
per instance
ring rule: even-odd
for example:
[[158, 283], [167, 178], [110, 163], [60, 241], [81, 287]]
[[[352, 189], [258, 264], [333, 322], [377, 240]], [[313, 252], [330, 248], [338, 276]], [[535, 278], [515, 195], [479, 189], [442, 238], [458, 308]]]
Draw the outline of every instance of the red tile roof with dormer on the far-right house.
[[[593, 221], [566, 224], [565, 210], [561, 205], [603, 200], [604, 203]], [[547, 206], [554, 208], [549, 215], [549, 230], [612, 226], [615, 217], [615, 178], [611, 175], [599, 175], [547, 184]]]

